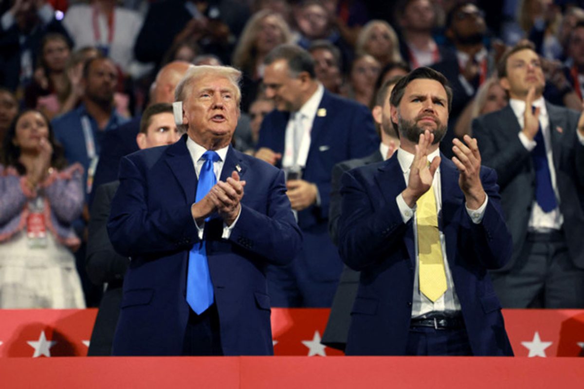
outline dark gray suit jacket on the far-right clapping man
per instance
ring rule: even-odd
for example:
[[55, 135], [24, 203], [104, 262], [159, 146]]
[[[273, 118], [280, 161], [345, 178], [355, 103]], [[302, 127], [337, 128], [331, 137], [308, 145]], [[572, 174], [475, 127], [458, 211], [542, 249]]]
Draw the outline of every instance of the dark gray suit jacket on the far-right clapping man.
[[[545, 107], [550, 119], [559, 210], [564, 216], [562, 229], [573, 264], [584, 268], [584, 146], [576, 136], [580, 112], [549, 102]], [[503, 213], [513, 237], [513, 256], [502, 271], [510, 270], [522, 252], [536, 196], [536, 172], [531, 153], [517, 135], [521, 130], [509, 105], [472, 122], [482, 161], [499, 177]]]

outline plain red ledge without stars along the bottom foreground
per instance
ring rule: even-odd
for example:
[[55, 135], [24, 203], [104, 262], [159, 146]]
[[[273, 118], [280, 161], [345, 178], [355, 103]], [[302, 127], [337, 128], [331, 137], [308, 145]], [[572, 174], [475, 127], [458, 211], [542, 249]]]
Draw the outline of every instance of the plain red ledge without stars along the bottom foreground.
[[580, 358], [2, 358], [3, 388], [579, 388]]

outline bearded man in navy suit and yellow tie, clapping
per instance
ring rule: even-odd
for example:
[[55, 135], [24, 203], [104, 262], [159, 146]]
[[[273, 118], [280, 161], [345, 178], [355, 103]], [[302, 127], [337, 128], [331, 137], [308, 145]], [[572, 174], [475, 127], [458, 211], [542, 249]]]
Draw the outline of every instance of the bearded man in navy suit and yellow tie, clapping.
[[342, 177], [339, 250], [361, 271], [347, 355], [513, 355], [487, 269], [512, 242], [477, 141], [440, 154], [452, 92], [419, 68], [391, 94], [392, 158]]

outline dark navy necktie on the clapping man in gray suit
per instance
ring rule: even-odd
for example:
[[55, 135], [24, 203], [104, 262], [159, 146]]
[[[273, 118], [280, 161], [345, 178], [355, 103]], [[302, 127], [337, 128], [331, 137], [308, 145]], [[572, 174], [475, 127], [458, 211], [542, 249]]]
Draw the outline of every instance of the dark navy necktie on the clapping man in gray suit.
[[548, 165], [547, 155], [545, 154], [545, 142], [541, 125], [533, 140], [537, 142], [536, 147], [531, 150], [533, 167], [536, 169], [536, 201], [541, 209], [547, 213], [554, 210], [558, 203], [555, 200], [554, 188], [551, 185], [550, 165]]

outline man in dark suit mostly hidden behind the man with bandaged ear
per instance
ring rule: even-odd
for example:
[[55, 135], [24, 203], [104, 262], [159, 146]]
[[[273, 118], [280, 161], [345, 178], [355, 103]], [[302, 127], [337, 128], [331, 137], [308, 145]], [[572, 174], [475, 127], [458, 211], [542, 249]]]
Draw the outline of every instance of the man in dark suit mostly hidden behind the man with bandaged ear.
[[[172, 104], [161, 102], [148, 107], [140, 121], [140, 132], [136, 143], [140, 149], [175, 143], [180, 137], [172, 114]], [[100, 185], [96, 189], [89, 220], [87, 245], [87, 274], [96, 285], [107, 285], [95, 319], [89, 356], [112, 354], [113, 334], [117, 318], [120, 316], [121, 286], [130, 261], [128, 257], [116, 253], [107, 236], [106, 224], [109, 219], [112, 199], [119, 181]]]

